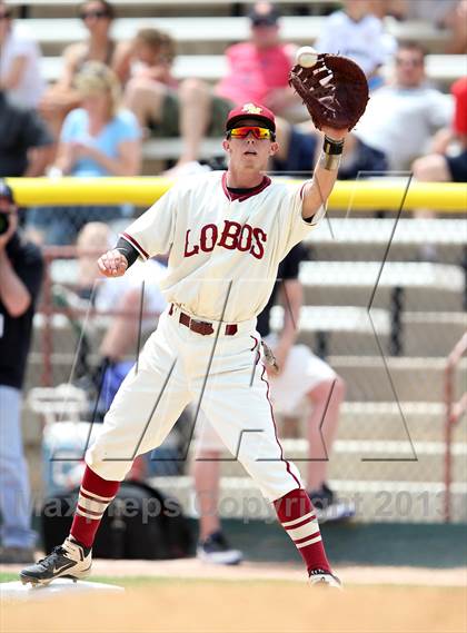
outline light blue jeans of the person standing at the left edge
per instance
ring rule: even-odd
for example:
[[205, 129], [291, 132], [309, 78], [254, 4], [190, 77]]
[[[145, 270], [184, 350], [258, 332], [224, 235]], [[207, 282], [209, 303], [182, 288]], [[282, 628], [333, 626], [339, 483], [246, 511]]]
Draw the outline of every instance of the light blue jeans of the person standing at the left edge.
[[31, 495], [21, 437], [21, 392], [0, 385], [0, 537], [4, 547], [32, 547]]

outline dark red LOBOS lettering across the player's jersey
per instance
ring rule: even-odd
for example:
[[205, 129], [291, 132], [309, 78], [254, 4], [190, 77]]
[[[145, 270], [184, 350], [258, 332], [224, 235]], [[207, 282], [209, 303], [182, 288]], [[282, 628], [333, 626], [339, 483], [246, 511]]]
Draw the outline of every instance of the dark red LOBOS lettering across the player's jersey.
[[221, 246], [228, 250], [240, 250], [249, 253], [257, 259], [262, 259], [265, 255], [264, 244], [268, 236], [258, 227], [251, 227], [248, 224], [240, 225], [232, 220], [225, 220], [223, 227], [217, 225], [205, 225], [200, 233], [197, 244], [190, 237], [191, 229], [188, 229], [185, 236], [185, 257], [197, 255], [199, 250], [210, 253], [215, 246]]

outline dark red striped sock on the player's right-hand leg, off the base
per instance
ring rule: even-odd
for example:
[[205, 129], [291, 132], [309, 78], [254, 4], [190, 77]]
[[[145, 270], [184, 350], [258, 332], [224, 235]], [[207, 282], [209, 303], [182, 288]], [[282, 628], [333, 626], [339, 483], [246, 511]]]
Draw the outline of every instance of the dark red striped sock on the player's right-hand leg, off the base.
[[315, 508], [306, 491], [298, 488], [274, 502], [277, 516], [304, 558], [308, 573], [330, 572]]

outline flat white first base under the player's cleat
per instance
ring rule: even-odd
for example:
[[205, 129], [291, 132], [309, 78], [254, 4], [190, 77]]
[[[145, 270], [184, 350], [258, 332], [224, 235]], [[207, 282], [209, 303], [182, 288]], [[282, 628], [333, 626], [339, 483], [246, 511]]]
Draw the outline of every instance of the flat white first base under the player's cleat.
[[29, 600], [47, 600], [61, 595], [74, 595], [77, 593], [96, 593], [96, 592], [123, 592], [125, 589], [117, 585], [107, 585], [103, 583], [89, 583], [78, 581], [74, 583], [68, 578], [57, 578], [50, 585], [36, 586], [23, 585], [16, 581], [11, 583], [0, 584], [0, 601], [2, 604], [12, 602], [23, 602]]

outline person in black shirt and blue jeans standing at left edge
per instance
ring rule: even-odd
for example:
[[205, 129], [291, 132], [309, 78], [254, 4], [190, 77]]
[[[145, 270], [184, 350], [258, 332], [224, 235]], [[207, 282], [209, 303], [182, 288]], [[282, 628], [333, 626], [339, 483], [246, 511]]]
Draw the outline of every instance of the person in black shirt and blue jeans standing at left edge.
[[33, 560], [28, 465], [21, 439], [21, 388], [42, 279], [39, 249], [18, 230], [11, 189], [0, 182], [0, 563]]

